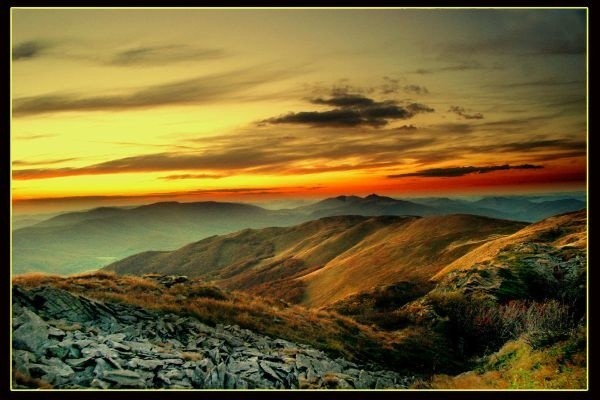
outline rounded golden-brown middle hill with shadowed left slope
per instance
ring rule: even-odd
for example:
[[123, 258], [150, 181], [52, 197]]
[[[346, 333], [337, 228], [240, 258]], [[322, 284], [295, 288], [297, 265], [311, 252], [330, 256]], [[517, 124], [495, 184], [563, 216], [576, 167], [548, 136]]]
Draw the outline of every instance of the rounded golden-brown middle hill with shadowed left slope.
[[246, 229], [172, 252], [145, 252], [105, 269], [184, 274], [323, 306], [384, 283], [429, 280], [481, 243], [525, 225], [472, 215], [326, 217], [287, 228]]

